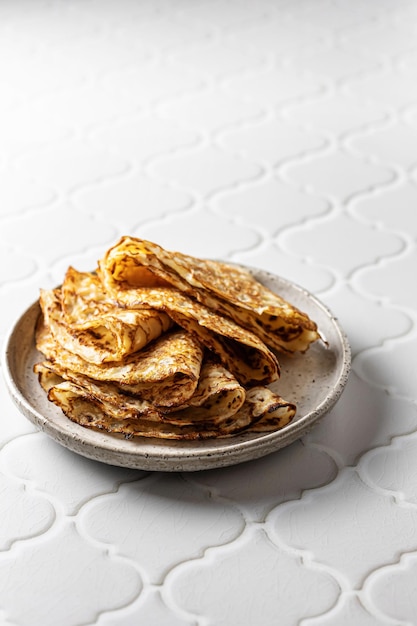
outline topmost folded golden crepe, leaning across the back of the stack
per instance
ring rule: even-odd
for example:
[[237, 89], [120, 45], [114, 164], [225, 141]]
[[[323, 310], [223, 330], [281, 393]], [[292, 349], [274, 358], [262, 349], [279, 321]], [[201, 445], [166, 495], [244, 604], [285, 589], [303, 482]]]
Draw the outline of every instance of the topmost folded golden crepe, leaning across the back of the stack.
[[170, 252], [155, 243], [122, 237], [99, 262], [106, 289], [172, 286], [240, 326], [275, 350], [304, 352], [319, 338], [308, 315], [238, 266]]

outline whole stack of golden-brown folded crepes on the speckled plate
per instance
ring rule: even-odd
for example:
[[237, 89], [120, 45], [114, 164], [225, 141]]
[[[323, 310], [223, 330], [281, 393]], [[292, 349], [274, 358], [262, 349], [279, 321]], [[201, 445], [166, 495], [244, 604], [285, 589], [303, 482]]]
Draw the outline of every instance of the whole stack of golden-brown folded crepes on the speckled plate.
[[94, 272], [41, 290], [35, 365], [74, 422], [125, 437], [206, 439], [282, 428], [296, 407], [269, 384], [276, 352], [316, 324], [233, 265], [123, 237]]

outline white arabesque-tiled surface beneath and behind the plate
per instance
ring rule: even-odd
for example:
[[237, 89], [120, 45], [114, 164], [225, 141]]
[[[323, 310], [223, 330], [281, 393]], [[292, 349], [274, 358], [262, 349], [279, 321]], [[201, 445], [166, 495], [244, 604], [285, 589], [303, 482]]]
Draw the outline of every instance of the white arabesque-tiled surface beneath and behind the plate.
[[1, 626], [417, 624], [416, 70], [413, 0], [2, 0], [1, 340], [132, 234], [302, 284], [353, 371], [301, 442], [183, 475], [1, 382]]

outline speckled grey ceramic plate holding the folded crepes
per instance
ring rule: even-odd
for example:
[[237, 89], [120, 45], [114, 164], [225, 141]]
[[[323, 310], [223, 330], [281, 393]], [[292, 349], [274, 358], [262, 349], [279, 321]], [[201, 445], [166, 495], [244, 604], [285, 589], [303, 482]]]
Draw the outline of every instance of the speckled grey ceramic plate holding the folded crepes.
[[17, 407], [40, 430], [82, 456], [150, 471], [225, 467], [289, 445], [309, 431], [339, 399], [350, 371], [349, 344], [338, 321], [312, 294], [279, 276], [249, 269], [260, 282], [308, 313], [325, 340], [313, 344], [305, 354], [279, 358], [281, 378], [271, 388], [297, 405], [295, 419], [283, 429], [225, 439], [177, 442], [124, 439], [74, 424], [48, 402], [32, 371], [34, 363], [42, 360], [34, 344], [34, 329], [40, 312], [37, 302], [16, 322], [5, 342], [3, 370]]

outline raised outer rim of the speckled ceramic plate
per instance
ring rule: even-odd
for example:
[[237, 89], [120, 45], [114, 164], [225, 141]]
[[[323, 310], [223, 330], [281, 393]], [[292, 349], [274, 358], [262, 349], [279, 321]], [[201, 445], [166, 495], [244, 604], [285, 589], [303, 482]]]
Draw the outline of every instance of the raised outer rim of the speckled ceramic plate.
[[[225, 263], [227, 261], [223, 262]], [[332, 324], [333, 329], [336, 331], [340, 342], [339, 349], [341, 351], [338, 378], [334, 387], [326, 394], [322, 401], [305, 415], [277, 431], [260, 433], [259, 436], [244, 440], [239, 440], [239, 435], [208, 440], [215, 443], [214, 447], [201, 449], [199, 449], [199, 444], [201, 446], [200, 441], [181, 442], [157, 440], [156, 443], [150, 444], [148, 438], [136, 438], [135, 443], [138, 439], [141, 439], [143, 445], [141, 447], [135, 447], [135, 450], [132, 449], [126, 453], [123, 451], [123, 447], [120, 444], [120, 442], [125, 442], [126, 440], [117, 439], [114, 435], [109, 433], [89, 430], [79, 424], [71, 422], [71, 420], [62, 414], [60, 421], [68, 426], [68, 432], [65, 432], [66, 429], [60, 428], [59, 422], [57, 423], [56, 420], [48, 419], [47, 416], [42, 415], [37, 407], [31, 403], [27, 394], [25, 395], [19, 389], [11, 366], [11, 350], [15, 333], [19, 325], [22, 324], [29, 315], [34, 314], [33, 312], [36, 308], [38, 312], [40, 312], [39, 300], [32, 302], [18, 319], [12, 323], [6, 334], [1, 355], [1, 365], [6, 387], [19, 411], [31, 421], [38, 430], [45, 432], [57, 443], [72, 450], [76, 454], [109, 465], [148, 471], [197, 471], [236, 465], [278, 451], [300, 439], [331, 410], [344, 391], [351, 371], [351, 348], [347, 334], [330, 308], [305, 287], [278, 274], [274, 274], [269, 270], [230, 261], [228, 263], [229, 265], [235, 265], [250, 271], [255, 277], [261, 275], [263, 277], [262, 282], [268, 280], [278, 281], [287, 289], [297, 291], [322, 310], [329, 323]], [[32, 345], [33, 339], [34, 334], [31, 335], [29, 341], [26, 342], [28, 354], [31, 352], [30, 345]], [[28, 357], [26, 357], [26, 361], [27, 360]], [[56, 409], [59, 411], [58, 407], [56, 407]], [[117, 442], [119, 442], [119, 446], [117, 446]], [[149, 452], [151, 445], [156, 445], [158, 453], [152, 454]], [[146, 449], [148, 449], [148, 451], [146, 451]], [[103, 458], [106, 454], [109, 454], [111, 459]]]

